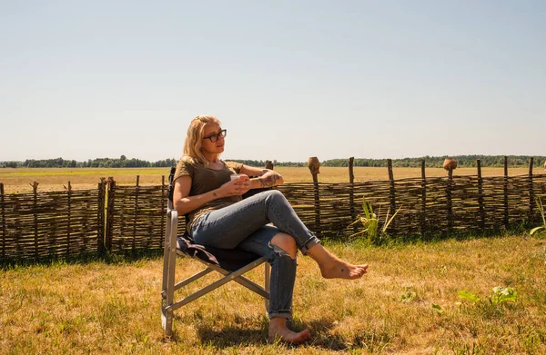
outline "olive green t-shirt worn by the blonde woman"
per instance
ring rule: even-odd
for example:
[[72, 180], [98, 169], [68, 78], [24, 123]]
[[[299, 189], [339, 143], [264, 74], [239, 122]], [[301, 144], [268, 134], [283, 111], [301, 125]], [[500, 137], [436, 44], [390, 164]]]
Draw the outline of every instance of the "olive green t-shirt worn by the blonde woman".
[[[177, 178], [181, 176], [191, 177], [191, 189], [189, 190], [189, 196], [196, 196], [201, 193], [215, 190], [229, 181], [229, 175], [232, 173], [239, 173], [241, 166], [243, 166], [243, 164], [235, 162], [222, 161], [222, 163], [224, 163], [223, 169], [214, 170], [199, 163], [190, 163], [184, 159], [180, 159], [177, 164], [177, 170], [175, 172], [173, 182], [175, 182]], [[241, 196], [229, 196], [205, 203], [196, 210], [189, 212], [189, 222], [187, 223], [187, 228], [189, 228], [191, 224], [197, 220], [197, 217], [203, 215], [205, 212], [218, 210], [241, 200]]]

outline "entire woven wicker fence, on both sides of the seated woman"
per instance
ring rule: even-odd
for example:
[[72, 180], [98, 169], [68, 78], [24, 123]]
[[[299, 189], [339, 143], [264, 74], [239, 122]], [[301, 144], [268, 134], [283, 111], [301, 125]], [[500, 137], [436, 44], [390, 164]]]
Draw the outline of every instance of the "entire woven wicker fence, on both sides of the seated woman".
[[[278, 187], [319, 237], [345, 239], [362, 199], [384, 215], [401, 207], [393, 236], [487, 230], [540, 222], [535, 198], [546, 196], [546, 174], [456, 176], [373, 182], [286, 183]], [[0, 183], [0, 257], [10, 260], [92, 252], [160, 249], [167, 185], [5, 194]], [[183, 231], [181, 219], [179, 230]]]

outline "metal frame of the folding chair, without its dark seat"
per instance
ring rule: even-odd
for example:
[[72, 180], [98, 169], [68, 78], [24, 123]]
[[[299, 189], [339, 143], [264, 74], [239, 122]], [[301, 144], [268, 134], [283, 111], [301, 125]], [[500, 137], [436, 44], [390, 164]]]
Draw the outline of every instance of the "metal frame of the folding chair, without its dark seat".
[[[175, 280], [175, 269], [176, 269], [176, 260], [177, 255], [186, 255], [184, 252], [177, 249], [177, 227], [178, 227], [178, 213], [177, 210], [173, 208], [173, 202], [171, 200], [172, 196], [172, 178], [174, 175], [174, 168], [171, 169], [171, 174], [169, 176], [169, 194], [167, 198], [167, 228], [166, 228], [166, 237], [165, 237], [165, 247], [163, 253], [163, 284], [161, 288], [161, 324], [165, 330], [167, 336], [172, 335], [173, 327], [173, 318], [174, 311], [190, 303], [191, 301], [196, 301], [199, 297], [206, 295], [210, 291], [214, 291], [220, 286], [226, 284], [229, 281], [236, 281], [240, 285], [248, 288], [248, 290], [257, 293], [259, 296], [265, 299], [266, 311], [269, 310], [269, 275], [270, 275], [270, 266], [265, 257], [259, 257], [257, 260], [252, 261], [245, 265], [244, 267], [238, 269], [237, 271], [227, 271], [226, 269], [221, 268], [217, 264], [203, 261], [199, 258], [194, 258], [197, 261], [201, 261], [205, 264], [206, 269], [197, 272], [193, 276], [188, 277], [186, 280], [179, 281], [177, 283]], [[264, 287], [258, 285], [254, 281], [248, 280], [243, 276], [248, 271], [251, 271], [257, 268], [259, 265], [265, 265], [265, 285]], [[207, 275], [212, 271], [217, 271], [222, 274], [224, 277], [210, 283], [206, 287], [195, 291], [194, 293], [188, 295], [182, 300], [175, 301], [175, 291], [180, 290], [193, 281], [197, 281], [203, 276]]]

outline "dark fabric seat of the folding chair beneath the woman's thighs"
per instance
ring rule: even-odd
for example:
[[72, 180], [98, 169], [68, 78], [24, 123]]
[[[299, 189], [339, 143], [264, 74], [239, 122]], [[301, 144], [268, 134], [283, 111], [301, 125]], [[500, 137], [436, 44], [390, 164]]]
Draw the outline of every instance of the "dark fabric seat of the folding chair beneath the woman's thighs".
[[260, 256], [254, 252], [242, 249], [219, 249], [194, 243], [187, 232], [177, 237], [177, 250], [184, 254], [215, 264], [227, 271], [238, 271], [250, 262], [257, 261]]

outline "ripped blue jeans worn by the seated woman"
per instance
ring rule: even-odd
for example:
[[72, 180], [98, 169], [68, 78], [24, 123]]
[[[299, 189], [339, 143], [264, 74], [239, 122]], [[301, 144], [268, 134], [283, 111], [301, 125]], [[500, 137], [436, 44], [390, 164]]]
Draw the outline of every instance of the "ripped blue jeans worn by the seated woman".
[[[272, 222], [275, 226], [267, 225]], [[282, 192], [270, 190], [198, 217], [190, 234], [198, 244], [239, 247], [266, 256], [271, 264], [269, 318], [290, 318], [296, 260], [270, 242], [278, 232], [291, 235], [304, 255], [319, 239], [299, 220]]]

